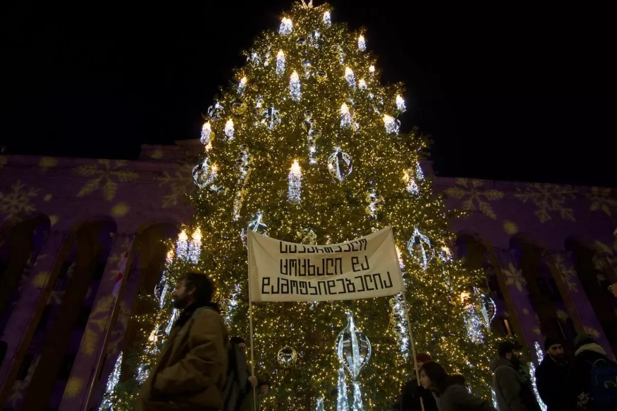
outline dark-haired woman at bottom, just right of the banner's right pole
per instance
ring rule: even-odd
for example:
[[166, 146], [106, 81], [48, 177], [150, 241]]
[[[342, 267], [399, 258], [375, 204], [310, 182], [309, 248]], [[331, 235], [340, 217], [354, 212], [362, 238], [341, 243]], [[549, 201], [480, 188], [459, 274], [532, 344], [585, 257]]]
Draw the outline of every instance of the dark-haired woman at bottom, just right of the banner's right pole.
[[467, 391], [465, 378], [447, 375], [444, 367], [434, 361], [420, 367], [420, 383], [424, 389], [435, 392], [439, 411], [496, 411], [488, 401]]

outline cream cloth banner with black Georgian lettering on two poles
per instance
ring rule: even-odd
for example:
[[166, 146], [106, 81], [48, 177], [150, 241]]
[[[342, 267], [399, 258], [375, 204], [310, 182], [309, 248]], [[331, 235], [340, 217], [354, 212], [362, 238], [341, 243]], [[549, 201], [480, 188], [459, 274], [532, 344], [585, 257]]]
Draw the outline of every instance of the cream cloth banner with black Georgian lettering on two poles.
[[333, 301], [405, 290], [392, 228], [347, 243], [288, 243], [248, 230], [252, 301]]

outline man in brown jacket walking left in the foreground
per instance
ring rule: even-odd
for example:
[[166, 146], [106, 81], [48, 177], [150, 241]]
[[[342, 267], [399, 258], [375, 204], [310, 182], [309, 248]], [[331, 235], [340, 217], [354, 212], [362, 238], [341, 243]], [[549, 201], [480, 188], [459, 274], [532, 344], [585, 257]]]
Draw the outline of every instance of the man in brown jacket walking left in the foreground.
[[189, 272], [173, 291], [181, 313], [139, 393], [138, 411], [223, 409], [228, 334], [212, 294], [200, 272]]

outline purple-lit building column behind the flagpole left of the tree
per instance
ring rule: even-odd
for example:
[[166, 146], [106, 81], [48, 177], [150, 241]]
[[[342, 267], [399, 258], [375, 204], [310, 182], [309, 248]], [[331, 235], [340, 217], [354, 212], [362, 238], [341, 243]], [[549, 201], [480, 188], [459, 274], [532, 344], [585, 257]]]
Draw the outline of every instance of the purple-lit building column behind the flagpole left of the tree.
[[[131, 254], [131, 246], [133, 235], [117, 235], [112, 244], [112, 249], [107, 259], [105, 271], [101, 278], [101, 284], [96, 292], [93, 309], [86, 323], [86, 329], [81, 338], [79, 351], [75, 357], [75, 363], [71, 370], [70, 377], [67, 381], [67, 386], [64, 389], [62, 402], [60, 402], [60, 410], [77, 410], [84, 409], [85, 396], [88, 393], [89, 385], [93, 378], [96, 378], [96, 370], [99, 362], [102, 360], [101, 352], [105, 348], [107, 331], [113, 326], [115, 318], [114, 308], [122, 299], [122, 289], [117, 299], [112, 294], [115, 281], [118, 278], [118, 271], [122, 265], [122, 260], [126, 252]], [[126, 275], [130, 270], [130, 260], [125, 267], [125, 277], [123, 285], [128, 277]]]

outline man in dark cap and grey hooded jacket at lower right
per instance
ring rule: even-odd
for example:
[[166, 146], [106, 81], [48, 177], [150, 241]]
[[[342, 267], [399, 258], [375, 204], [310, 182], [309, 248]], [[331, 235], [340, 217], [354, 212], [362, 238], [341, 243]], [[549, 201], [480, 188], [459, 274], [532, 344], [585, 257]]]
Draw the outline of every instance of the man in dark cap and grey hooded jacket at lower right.
[[521, 348], [510, 341], [500, 342], [499, 357], [489, 363], [499, 411], [540, 411], [531, 376], [521, 366]]

